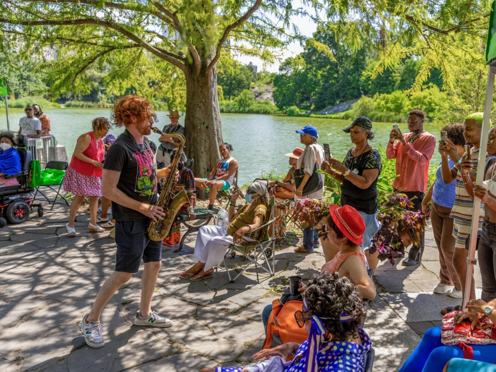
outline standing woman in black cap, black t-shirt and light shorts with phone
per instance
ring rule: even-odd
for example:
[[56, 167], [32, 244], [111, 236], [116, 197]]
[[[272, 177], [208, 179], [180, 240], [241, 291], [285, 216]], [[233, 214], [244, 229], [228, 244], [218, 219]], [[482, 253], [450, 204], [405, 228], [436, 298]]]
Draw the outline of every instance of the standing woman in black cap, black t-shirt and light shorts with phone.
[[[343, 163], [337, 159], [329, 159], [322, 163], [321, 169], [341, 183], [341, 205], [351, 205], [363, 217], [366, 229], [360, 246], [366, 251], [369, 267], [375, 269], [378, 252], [371, 256], [368, 249], [372, 245], [373, 236], [380, 229], [380, 223], [377, 221], [376, 184], [382, 163], [379, 152], [369, 144], [374, 133], [372, 122], [368, 118], [355, 118], [343, 131], [350, 133], [351, 142], [355, 147], [348, 151]], [[336, 254], [337, 251], [333, 253]]]

